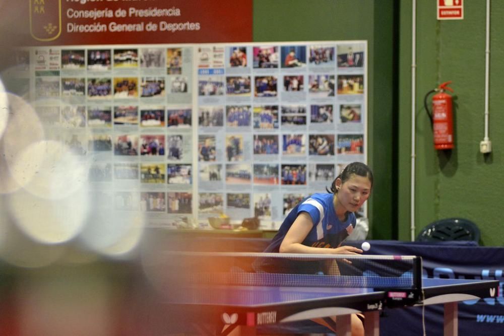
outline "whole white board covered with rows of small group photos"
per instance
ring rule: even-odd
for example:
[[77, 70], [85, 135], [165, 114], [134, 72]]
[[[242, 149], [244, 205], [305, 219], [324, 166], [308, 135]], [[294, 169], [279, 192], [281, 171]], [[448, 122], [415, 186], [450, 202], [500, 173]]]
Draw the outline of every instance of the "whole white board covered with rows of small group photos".
[[275, 230], [366, 162], [366, 41], [18, 53], [46, 136], [89, 165], [95, 203], [153, 227], [209, 228], [226, 214]]

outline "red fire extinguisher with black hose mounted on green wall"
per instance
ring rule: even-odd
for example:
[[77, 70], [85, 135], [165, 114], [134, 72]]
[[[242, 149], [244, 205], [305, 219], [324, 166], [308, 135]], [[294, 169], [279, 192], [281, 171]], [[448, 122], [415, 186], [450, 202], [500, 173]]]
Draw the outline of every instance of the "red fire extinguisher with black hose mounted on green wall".
[[432, 113], [429, 113], [424, 100], [425, 109], [432, 123], [434, 148], [437, 150], [453, 149], [452, 96], [445, 92], [446, 90], [453, 92], [452, 88], [448, 87], [451, 83], [452, 81], [448, 81], [440, 84], [437, 89], [429, 91], [425, 96], [426, 100], [430, 93], [437, 92], [432, 97]]

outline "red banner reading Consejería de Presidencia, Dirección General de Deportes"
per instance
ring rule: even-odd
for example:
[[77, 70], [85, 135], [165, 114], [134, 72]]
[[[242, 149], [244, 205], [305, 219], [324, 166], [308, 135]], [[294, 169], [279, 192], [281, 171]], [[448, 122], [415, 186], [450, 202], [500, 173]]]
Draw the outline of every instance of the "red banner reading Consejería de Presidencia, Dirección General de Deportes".
[[0, 9], [21, 45], [252, 40], [252, 0], [19, 0]]

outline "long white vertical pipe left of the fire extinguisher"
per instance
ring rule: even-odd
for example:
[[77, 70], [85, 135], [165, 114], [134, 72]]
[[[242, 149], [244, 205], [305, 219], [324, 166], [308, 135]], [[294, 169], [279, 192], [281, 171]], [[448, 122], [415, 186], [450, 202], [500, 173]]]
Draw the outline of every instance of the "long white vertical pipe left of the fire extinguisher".
[[410, 196], [410, 229], [411, 241], [415, 240], [415, 116], [416, 116], [416, 0], [413, 0], [411, 13], [411, 196]]

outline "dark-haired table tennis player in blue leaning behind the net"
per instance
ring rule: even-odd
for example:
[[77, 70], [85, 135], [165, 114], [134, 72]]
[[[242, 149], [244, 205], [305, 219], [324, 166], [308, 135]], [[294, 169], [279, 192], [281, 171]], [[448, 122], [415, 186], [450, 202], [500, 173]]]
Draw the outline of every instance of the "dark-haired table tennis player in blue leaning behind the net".
[[[314, 193], [304, 198], [283, 221], [278, 233], [264, 252], [358, 254], [362, 250], [353, 246], [341, 246], [356, 224], [354, 212], [367, 200], [373, 185], [371, 169], [361, 163], [348, 164], [327, 189], [328, 193]], [[274, 264], [263, 263], [261, 270], [274, 272]], [[283, 265], [282, 265], [283, 267]], [[304, 268], [304, 267], [303, 267]], [[322, 268], [322, 269], [321, 269]], [[337, 264], [321, 265], [313, 262], [303, 273], [339, 275]], [[363, 335], [363, 316], [352, 314], [352, 335]], [[332, 318], [335, 321], [334, 318]], [[334, 330], [334, 323], [317, 319]]]

